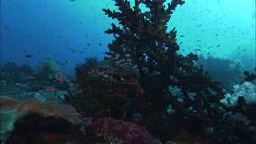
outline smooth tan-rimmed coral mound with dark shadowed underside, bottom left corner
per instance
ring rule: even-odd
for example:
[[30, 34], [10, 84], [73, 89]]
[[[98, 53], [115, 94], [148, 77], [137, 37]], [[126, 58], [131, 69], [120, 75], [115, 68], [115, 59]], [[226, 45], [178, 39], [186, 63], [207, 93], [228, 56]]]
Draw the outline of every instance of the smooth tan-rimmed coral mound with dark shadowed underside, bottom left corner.
[[84, 133], [83, 121], [72, 106], [0, 98], [1, 139], [7, 143], [50, 143], [57, 141], [54, 135], [66, 140]]

